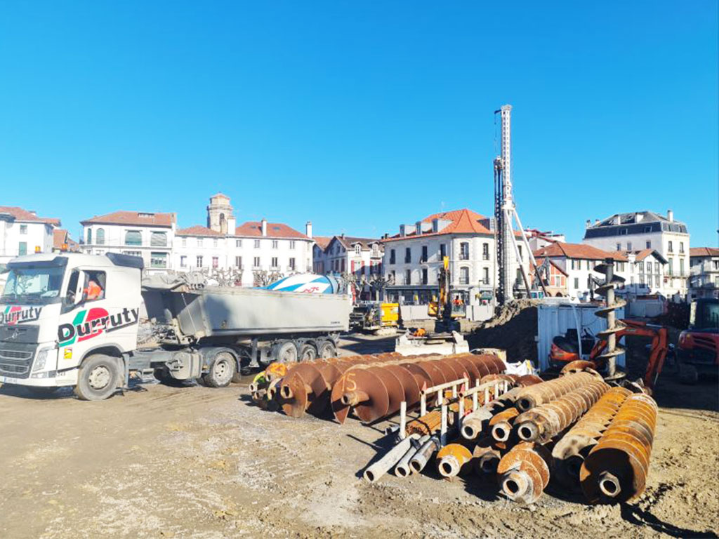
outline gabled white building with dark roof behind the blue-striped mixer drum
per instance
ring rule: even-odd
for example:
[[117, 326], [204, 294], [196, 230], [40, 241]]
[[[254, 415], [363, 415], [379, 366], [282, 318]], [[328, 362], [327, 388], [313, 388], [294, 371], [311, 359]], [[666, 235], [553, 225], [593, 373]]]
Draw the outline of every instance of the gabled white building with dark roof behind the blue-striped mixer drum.
[[[354, 282], [371, 282], [382, 278], [382, 260], [385, 247], [380, 239], [357, 236], [315, 238], [313, 271], [323, 275], [343, 275]], [[354, 288], [353, 288], [354, 290]], [[370, 285], [364, 285], [360, 300], [373, 297]]]

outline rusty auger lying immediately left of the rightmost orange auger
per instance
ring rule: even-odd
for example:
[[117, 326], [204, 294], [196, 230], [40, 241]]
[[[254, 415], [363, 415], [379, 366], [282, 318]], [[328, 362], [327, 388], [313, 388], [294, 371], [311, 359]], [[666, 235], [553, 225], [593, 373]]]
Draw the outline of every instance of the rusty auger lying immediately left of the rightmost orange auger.
[[580, 469], [585, 456], [629, 395], [631, 391], [623, 387], [610, 387], [554, 446], [551, 451], [554, 476], [562, 487], [580, 492]]

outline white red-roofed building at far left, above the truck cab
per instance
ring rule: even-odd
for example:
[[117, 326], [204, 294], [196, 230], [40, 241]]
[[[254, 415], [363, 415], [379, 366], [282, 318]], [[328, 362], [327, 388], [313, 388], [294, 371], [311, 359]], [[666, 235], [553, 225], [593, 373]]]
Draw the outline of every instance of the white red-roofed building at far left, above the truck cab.
[[52, 252], [60, 219], [38, 217], [17, 206], [0, 206], [0, 264], [34, 252]]

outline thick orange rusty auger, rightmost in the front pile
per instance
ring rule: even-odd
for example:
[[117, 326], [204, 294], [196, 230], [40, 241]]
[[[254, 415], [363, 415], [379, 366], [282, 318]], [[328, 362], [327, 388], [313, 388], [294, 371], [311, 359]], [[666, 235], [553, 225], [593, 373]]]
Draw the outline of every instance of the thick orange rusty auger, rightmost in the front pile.
[[656, 428], [656, 402], [630, 395], [582, 464], [580, 483], [590, 503], [627, 502], [646, 487]]

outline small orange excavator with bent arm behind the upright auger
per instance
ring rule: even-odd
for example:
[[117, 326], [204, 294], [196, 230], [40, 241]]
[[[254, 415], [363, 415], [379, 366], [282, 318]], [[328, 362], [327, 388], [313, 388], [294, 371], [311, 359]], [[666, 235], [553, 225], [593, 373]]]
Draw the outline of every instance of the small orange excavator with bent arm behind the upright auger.
[[[669, 331], [663, 326], [635, 320], [619, 320], [618, 325], [623, 327], [615, 333], [617, 341], [624, 336], [651, 337], [649, 361], [647, 361], [646, 372], [642, 377], [642, 381], [644, 382], [644, 387], [654, 390], [656, 379], [664, 367], [667, 354], [669, 354]], [[589, 354], [590, 362], [595, 366], [593, 368], [603, 369], [603, 365], [598, 358], [606, 347], [607, 341], [605, 339], [600, 338], [595, 342]], [[566, 369], [570, 363], [581, 360], [578, 347], [574, 346], [571, 341], [561, 336], [554, 338], [549, 351], [549, 363], [552, 366], [562, 366]], [[585, 362], [582, 361], [582, 363]]]

